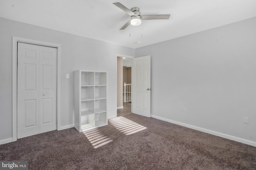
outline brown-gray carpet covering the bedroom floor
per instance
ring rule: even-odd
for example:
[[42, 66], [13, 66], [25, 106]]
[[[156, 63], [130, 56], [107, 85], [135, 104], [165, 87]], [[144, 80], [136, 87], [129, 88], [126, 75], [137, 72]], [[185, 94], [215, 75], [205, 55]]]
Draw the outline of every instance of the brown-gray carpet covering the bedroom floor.
[[130, 114], [2, 144], [0, 160], [27, 160], [30, 170], [255, 170], [256, 147]]

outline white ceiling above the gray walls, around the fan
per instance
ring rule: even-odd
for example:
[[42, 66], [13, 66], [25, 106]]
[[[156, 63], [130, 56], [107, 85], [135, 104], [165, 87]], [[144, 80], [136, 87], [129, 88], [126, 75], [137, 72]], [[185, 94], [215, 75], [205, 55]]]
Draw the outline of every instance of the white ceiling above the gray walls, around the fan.
[[[139, 7], [142, 15], [171, 16], [119, 30], [130, 16], [114, 2]], [[255, 16], [256, 0], [0, 0], [2, 18], [132, 48]]]

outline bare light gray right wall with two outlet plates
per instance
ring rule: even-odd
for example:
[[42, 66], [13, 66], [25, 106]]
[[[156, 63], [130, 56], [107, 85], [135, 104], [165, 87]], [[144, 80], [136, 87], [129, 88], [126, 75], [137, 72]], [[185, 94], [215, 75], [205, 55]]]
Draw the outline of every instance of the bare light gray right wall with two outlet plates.
[[135, 53], [152, 57], [152, 115], [256, 142], [256, 18]]

